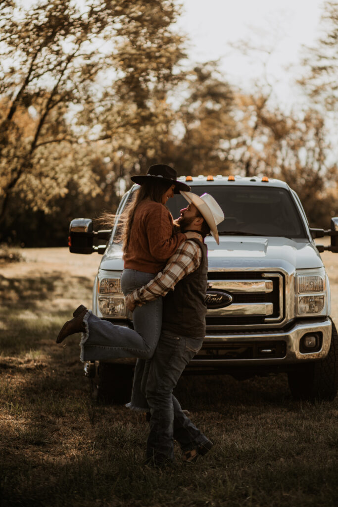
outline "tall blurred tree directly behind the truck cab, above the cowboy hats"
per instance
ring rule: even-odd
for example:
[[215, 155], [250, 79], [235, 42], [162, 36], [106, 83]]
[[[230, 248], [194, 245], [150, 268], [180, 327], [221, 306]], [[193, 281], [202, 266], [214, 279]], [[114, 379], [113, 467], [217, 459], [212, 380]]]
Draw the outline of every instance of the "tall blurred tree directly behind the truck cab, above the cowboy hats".
[[180, 88], [181, 104], [171, 137], [163, 150], [181, 174], [224, 174], [229, 171], [229, 141], [238, 130], [233, 116], [234, 93], [217, 62], [196, 65]]

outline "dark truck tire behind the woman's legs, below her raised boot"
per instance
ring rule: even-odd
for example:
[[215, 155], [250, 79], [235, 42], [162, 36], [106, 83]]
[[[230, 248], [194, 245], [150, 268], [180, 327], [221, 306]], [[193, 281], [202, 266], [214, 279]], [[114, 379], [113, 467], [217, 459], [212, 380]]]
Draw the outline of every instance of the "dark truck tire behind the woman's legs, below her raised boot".
[[95, 377], [90, 378], [92, 399], [115, 405], [130, 401], [133, 368], [114, 363], [99, 362]]

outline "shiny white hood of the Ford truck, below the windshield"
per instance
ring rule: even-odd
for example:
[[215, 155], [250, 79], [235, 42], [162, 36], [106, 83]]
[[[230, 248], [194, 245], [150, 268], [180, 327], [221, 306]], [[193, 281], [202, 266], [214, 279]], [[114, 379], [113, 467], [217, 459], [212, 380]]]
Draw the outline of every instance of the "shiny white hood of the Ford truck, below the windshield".
[[[219, 245], [208, 236], [209, 270], [241, 268], [321, 268], [323, 262], [315, 245], [306, 239], [288, 239], [262, 236], [221, 236]], [[100, 269], [122, 271], [122, 249], [119, 244], [110, 244], [102, 258]]]

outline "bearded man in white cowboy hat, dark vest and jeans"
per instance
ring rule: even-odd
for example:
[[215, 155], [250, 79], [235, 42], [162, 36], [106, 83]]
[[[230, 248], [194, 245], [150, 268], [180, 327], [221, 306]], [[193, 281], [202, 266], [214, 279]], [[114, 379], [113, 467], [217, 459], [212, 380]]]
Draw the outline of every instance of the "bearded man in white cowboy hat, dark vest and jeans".
[[207, 246], [211, 232], [217, 243], [219, 224], [224, 215], [212, 196], [181, 192], [189, 205], [180, 211], [177, 223], [182, 231], [195, 231], [201, 240], [184, 241], [164, 270], [147, 285], [126, 297], [133, 310], [137, 304], [165, 296], [162, 333], [143, 375], [145, 395], [151, 410], [147, 441], [147, 461], [162, 466], [174, 459], [174, 439], [185, 461], [193, 461], [212, 447], [207, 437], [182, 412], [172, 392], [185, 366], [200, 350], [205, 336]]

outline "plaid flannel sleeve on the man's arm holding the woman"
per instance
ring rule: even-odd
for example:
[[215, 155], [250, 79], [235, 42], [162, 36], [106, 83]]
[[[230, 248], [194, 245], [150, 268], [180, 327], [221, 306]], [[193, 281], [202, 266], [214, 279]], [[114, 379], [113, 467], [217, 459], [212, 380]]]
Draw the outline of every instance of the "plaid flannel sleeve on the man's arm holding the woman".
[[129, 296], [131, 301], [146, 303], [173, 291], [179, 280], [193, 273], [201, 264], [202, 250], [195, 241], [183, 241], [170, 257], [167, 265], [153, 280], [136, 289]]

